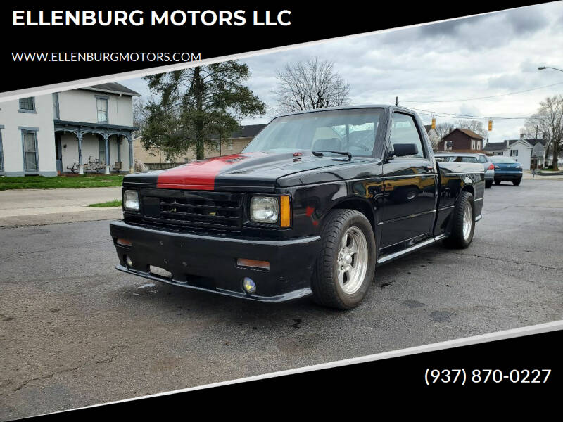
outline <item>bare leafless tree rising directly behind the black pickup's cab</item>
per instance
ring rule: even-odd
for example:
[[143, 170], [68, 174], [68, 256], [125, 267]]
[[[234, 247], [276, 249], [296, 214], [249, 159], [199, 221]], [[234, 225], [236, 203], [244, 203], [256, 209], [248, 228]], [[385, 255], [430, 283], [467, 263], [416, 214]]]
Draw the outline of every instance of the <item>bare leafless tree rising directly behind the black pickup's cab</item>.
[[334, 63], [311, 58], [278, 70], [278, 84], [272, 94], [279, 113], [346, 106], [350, 85], [334, 71]]

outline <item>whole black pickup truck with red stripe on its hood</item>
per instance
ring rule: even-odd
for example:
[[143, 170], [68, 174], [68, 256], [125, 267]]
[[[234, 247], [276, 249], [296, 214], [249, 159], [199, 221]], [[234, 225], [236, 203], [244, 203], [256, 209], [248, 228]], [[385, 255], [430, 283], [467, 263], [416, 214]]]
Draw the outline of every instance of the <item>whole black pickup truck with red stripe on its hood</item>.
[[281, 302], [360, 303], [377, 266], [442, 240], [467, 248], [483, 166], [437, 162], [398, 106], [276, 117], [241, 153], [123, 180], [117, 269]]

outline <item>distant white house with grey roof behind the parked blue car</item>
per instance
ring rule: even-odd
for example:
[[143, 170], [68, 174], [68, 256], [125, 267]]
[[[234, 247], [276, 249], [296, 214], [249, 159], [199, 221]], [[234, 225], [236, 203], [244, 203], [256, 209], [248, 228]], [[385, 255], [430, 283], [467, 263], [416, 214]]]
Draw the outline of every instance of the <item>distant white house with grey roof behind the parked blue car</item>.
[[502, 142], [489, 142], [485, 151], [494, 155], [506, 155], [522, 165], [524, 170], [541, 168], [545, 164], [545, 139], [506, 139]]

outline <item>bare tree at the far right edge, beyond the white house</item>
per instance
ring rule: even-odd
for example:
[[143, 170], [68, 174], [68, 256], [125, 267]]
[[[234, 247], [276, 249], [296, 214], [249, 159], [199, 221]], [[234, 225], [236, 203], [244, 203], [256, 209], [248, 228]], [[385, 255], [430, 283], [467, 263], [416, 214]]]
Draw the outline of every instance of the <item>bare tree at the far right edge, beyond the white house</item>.
[[[555, 95], [540, 102], [540, 108], [532, 115], [524, 127], [525, 136], [542, 134], [545, 151], [551, 151], [553, 170], [558, 170], [559, 153], [563, 149], [563, 96]], [[533, 136], [535, 137], [535, 136]]]

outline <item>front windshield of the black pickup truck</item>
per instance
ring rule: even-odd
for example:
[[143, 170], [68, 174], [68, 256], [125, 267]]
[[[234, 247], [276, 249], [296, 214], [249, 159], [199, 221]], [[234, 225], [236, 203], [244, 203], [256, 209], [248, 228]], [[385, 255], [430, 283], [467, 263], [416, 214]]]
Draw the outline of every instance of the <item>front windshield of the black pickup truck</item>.
[[383, 114], [381, 108], [356, 108], [277, 117], [242, 152], [348, 151], [369, 156]]

